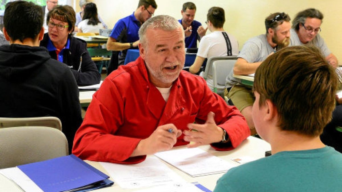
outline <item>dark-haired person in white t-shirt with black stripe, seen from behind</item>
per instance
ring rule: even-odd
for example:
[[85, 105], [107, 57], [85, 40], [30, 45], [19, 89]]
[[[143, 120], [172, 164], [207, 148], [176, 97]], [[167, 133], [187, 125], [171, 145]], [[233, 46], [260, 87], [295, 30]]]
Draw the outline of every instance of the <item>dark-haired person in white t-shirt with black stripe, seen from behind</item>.
[[[189, 72], [198, 73], [206, 58], [239, 54], [239, 44], [235, 37], [224, 31], [224, 22], [225, 14], [222, 8], [212, 7], [209, 9], [206, 24], [211, 33], [203, 36], [199, 42], [197, 56], [194, 64], [190, 66]], [[228, 43], [230, 43], [229, 50]], [[212, 89], [211, 78], [207, 78], [207, 84]]]

